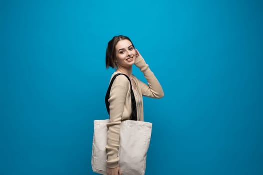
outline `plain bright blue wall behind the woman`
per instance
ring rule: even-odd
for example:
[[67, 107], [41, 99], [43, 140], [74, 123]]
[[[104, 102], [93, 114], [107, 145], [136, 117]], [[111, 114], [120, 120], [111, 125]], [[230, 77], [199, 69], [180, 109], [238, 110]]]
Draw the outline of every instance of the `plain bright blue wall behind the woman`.
[[[129, 36], [165, 92], [146, 174], [263, 174], [260, 0], [2, 0], [1, 174], [93, 174], [105, 50]], [[134, 67], [134, 74], [145, 81]]]

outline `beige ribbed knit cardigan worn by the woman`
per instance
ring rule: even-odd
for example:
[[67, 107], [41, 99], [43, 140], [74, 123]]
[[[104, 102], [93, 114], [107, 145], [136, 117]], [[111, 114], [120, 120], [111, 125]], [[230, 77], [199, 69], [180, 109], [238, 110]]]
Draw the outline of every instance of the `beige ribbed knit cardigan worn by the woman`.
[[[137, 79], [132, 75], [135, 81], [137, 90], [140, 97], [147, 96], [152, 98], [161, 98], [164, 96], [163, 89], [150, 70], [149, 65], [146, 64], [145, 60], [138, 56], [135, 60], [135, 65], [143, 72], [148, 85]], [[117, 74], [114, 72], [112, 77]], [[129, 120], [131, 116], [131, 89], [130, 82], [125, 76], [117, 76], [114, 80], [111, 91], [110, 91], [110, 122], [107, 124], [108, 135], [107, 135], [107, 167], [115, 168], [118, 167], [118, 148], [120, 140], [120, 123], [124, 120]], [[143, 121], [143, 102], [141, 105], [140, 120]]]

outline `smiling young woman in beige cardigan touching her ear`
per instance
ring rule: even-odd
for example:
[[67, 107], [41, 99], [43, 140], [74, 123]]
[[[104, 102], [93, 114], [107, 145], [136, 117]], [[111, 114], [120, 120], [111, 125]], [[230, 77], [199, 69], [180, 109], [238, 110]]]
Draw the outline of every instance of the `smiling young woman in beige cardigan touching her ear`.
[[[148, 85], [132, 75], [132, 65], [135, 64], [143, 72]], [[137, 119], [143, 121], [142, 96], [161, 98], [164, 96], [162, 87], [146, 64], [145, 60], [135, 49], [132, 41], [126, 36], [115, 36], [109, 43], [106, 50], [106, 67], [115, 68], [117, 73], [128, 75], [132, 82], [132, 89], [136, 100]], [[113, 81], [110, 91], [110, 122], [107, 124], [107, 174], [121, 174], [118, 161], [118, 148], [120, 138], [120, 123], [129, 120], [131, 117], [131, 89], [127, 77], [120, 75]]]

